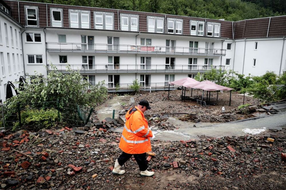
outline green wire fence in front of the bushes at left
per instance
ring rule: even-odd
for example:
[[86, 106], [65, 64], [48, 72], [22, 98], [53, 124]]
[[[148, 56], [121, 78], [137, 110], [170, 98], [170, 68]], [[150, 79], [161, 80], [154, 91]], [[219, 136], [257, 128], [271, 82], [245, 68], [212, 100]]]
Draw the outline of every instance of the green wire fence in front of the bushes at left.
[[88, 124], [92, 111], [92, 107], [72, 103], [60, 107], [58, 101], [0, 104], [0, 130], [19, 130], [23, 126], [37, 129], [41, 128], [41, 121], [46, 126], [54, 122], [84, 126]]

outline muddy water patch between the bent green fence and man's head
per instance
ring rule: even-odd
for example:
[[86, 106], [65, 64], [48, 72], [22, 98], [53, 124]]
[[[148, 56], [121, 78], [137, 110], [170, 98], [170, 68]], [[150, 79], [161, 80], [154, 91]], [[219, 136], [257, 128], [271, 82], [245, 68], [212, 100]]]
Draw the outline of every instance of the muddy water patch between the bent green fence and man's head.
[[115, 109], [114, 118], [118, 117], [119, 111], [122, 110], [122, 104], [129, 104], [130, 96], [115, 96], [112, 99], [106, 101], [106, 104], [98, 106], [96, 108], [97, 117], [100, 121], [104, 120], [106, 117], [112, 118], [113, 110]]

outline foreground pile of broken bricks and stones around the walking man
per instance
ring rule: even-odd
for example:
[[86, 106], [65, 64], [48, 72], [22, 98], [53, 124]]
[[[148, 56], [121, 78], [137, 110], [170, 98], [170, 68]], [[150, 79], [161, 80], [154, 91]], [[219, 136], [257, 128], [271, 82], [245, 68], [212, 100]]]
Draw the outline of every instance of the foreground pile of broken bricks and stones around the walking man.
[[[112, 175], [121, 133], [104, 128], [61, 128], [39, 132], [5, 131], [0, 134], [0, 184], [2, 189], [132, 189], [130, 184], [145, 183], [132, 158], [122, 168], [123, 176]], [[152, 141], [148, 156], [148, 178], [156, 187], [187, 187], [188, 183], [168, 176], [195, 176], [192, 187], [206, 178], [248, 181], [253, 175], [285, 172], [285, 130], [265, 136], [204, 138], [176, 142]], [[171, 179], [171, 178], [172, 179]], [[181, 176], [182, 178], [182, 176]], [[145, 181], [145, 182], [144, 182]], [[167, 181], [165, 183], [164, 181]], [[239, 185], [239, 182], [237, 182]], [[155, 188], [155, 187], [154, 187]], [[158, 189], [155, 188], [155, 189]], [[163, 188], [162, 186], [160, 188]]]

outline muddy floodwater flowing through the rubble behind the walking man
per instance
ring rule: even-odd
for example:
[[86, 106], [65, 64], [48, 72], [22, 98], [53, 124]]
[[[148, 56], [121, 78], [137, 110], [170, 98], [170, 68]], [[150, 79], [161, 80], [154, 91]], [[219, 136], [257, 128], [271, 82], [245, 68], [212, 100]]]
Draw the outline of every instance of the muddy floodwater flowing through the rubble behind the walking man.
[[[129, 104], [131, 96], [116, 96], [107, 101], [105, 105], [97, 107], [98, 119], [103, 120], [106, 117], [112, 117], [112, 111], [115, 109], [115, 118], [121, 110], [122, 104]], [[271, 115], [263, 118], [245, 120], [241, 122], [228, 122], [228, 123], [209, 123], [209, 122], [185, 122], [176, 118], [170, 117], [168, 122], [174, 124], [177, 128], [173, 131], [160, 131], [152, 129], [155, 133], [154, 140], [189, 140], [198, 139], [200, 135], [223, 137], [223, 136], [240, 136], [243, 134], [258, 134], [271, 129], [281, 129], [281, 125], [286, 124], [286, 112]], [[193, 127], [193, 126], [196, 127]], [[115, 132], [122, 132], [123, 128], [116, 128]]]

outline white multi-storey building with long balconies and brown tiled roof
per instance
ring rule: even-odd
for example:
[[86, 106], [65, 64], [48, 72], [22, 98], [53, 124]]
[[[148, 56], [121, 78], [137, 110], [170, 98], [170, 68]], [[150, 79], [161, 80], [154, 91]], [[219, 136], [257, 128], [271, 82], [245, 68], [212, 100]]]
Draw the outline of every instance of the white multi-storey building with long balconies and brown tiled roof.
[[[46, 77], [51, 64], [68, 73], [70, 64], [91, 84], [105, 80], [112, 89], [138, 79], [142, 87], [153, 88], [211, 68], [252, 75], [286, 70], [286, 16], [231, 22], [25, 1], [5, 3], [21, 28], [23, 61], [19, 61], [26, 78], [33, 77], [34, 71]], [[1, 28], [5, 17], [0, 17]]]

